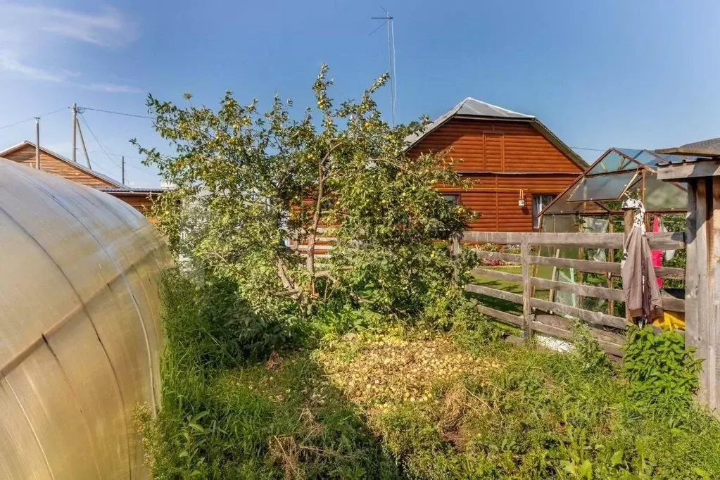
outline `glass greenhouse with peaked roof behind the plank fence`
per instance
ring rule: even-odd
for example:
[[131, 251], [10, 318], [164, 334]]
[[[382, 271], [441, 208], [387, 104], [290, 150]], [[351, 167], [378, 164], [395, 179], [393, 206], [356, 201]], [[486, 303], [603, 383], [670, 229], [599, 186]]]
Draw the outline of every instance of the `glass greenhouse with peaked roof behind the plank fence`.
[[[684, 214], [688, 209], [688, 191], [684, 184], [657, 179], [657, 166], [676, 163], [680, 155], [655, 153], [652, 150], [611, 148], [577, 178], [562, 194], [559, 194], [541, 212], [542, 232], [623, 232], [625, 199], [639, 199], [646, 207], [645, 222], [648, 231], [684, 230]], [[684, 253], [673, 257], [665, 253], [663, 264], [680, 265]], [[549, 248], [539, 250], [539, 255], [580, 260], [619, 262], [621, 250], [591, 248]], [[683, 264], [684, 266], [684, 264]], [[570, 283], [619, 287], [619, 279], [578, 271], [574, 268], [553, 268], [552, 271], [536, 271], [537, 276]], [[684, 294], [682, 281], [668, 281], [665, 293], [674, 296]], [[670, 287], [675, 287], [670, 288]], [[621, 305], [605, 299], [585, 298], [562, 291], [550, 291], [555, 302], [581, 307], [608, 314], [620, 314]]]

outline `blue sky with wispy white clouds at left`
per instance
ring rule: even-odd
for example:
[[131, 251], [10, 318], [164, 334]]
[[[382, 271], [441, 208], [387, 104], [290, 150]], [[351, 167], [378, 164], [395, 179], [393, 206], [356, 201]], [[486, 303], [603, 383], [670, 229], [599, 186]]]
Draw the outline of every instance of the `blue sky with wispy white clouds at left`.
[[[0, 0], [0, 127], [73, 102], [142, 115], [148, 92], [215, 106], [229, 89], [261, 107], [277, 92], [300, 110], [323, 62], [334, 98], [357, 98], [387, 71], [384, 30], [368, 35], [380, 4], [395, 17], [400, 122], [474, 96], [536, 115], [573, 147], [720, 136], [715, 0]], [[389, 112], [390, 90], [378, 99]], [[129, 184], [159, 184], [127, 141], [165, 149], [148, 120], [84, 118], [103, 145], [85, 132], [95, 168], [119, 178], [127, 155]], [[34, 135], [32, 121], [0, 128], [0, 147]], [[42, 118], [41, 143], [70, 155], [69, 109]]]

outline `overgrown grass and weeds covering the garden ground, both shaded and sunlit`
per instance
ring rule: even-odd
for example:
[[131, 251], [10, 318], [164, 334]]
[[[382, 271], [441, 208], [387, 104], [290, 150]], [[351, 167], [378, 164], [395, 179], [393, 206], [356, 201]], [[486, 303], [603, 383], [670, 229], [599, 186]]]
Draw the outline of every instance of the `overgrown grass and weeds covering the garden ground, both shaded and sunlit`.
[[396, 327], [270, 353], [200, 290], [162, 288], [162, 408], [138, 410], [154, 478], [720, 479], [720, 423], [639, 409], [587, 338], [566, 355]]

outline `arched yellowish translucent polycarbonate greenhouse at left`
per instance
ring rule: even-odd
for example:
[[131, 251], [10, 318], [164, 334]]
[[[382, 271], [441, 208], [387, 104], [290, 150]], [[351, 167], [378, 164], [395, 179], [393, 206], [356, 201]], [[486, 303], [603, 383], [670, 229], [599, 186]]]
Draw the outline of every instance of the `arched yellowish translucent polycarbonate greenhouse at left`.
[[170, 263], [129, 205], [0, 159], [0, 479], [148, 476]]

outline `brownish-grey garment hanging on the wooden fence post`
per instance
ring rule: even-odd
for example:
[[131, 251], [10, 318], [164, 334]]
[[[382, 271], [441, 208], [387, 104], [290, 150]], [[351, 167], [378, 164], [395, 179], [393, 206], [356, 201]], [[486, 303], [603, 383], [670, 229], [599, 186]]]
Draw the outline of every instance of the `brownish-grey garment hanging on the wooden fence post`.
[[625, 308], [631, 317], [652, 322], [663, 316], [660, 288], [652, 264], [652, 252], [645, 236], [645, 208], [641, 201], [624, 201], [624, 209], [636, 209], [633, 227], [623, 245], [620, 263], [625, 292]]

